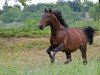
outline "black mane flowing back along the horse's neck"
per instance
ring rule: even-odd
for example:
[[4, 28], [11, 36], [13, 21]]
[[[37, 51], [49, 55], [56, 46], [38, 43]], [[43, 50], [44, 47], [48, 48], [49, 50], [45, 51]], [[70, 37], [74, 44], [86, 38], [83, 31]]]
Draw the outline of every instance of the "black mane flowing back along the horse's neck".
[[59, 22], [64, 26], [64, 27], [68, 27], [68, 24], [65, 23], [64, 19], [62, 18], [62, 14], [60, 11], [58, 10], [53, 10], [52, 11], [53, 14], [57, 17], [57, 19], [59, 20]]

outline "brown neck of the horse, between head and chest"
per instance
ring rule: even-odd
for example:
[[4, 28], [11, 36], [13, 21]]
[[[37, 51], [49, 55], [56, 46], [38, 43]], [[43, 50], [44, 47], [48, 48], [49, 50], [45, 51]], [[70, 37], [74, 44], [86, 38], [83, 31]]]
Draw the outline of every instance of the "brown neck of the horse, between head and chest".
[[50, 26], [52, 35], [57, 34], [58, 31], [65, 28], [64, 26], [61, 25], [61, 23], [58, 21], [56, 17], [53, 17], [52, 21], [53, 21], [53, 24]]

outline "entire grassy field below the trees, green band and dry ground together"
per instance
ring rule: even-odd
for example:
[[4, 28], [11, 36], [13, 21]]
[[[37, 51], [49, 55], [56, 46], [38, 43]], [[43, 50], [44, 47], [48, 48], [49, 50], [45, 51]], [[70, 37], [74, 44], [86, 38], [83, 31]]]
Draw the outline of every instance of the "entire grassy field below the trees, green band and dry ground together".
[[0, 22], [0, 75], [100, 75], [100, 21], [78, 21], [69, 27], [95, 28], [94, 45], [88, 46], [88, 64], [83, 65], [79, 50], [72, 53], [73, 61], [64, 64], [65, 54], [59, 52], [50, 63], [50, 28], [39, 30], [38, 22], [3, 24]]

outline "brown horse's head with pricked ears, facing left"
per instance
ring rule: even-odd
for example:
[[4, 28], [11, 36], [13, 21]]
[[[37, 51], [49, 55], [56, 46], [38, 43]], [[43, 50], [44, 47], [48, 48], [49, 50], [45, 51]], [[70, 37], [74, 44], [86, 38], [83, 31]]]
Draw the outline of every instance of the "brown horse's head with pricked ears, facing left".
[[40, 21], [39, 28], [43, 30], [45, 27], [49, 26], [52, 24], [52, 10], [46, 10], [45, 8], [45, 13], [42, 17], [42, 20]]

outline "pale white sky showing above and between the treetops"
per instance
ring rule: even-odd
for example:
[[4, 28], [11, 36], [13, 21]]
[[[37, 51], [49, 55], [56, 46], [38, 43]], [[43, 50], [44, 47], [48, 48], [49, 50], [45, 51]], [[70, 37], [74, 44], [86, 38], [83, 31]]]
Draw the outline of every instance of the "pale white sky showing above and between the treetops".
[[[26, 3], [30, 5], [30, 4], [37, 4], [37, 3], [56, 3], [57, 1], [58, 0], [32, 0], [31, 3], [29, 3], [29, 2], [26, 2]], [[65, 0], [65, 1], [70, 1], [70, 0]], [[98, 2], [98, 0], [89, 0], [89, 1]], [[0, 9], [1, 10], [3, 9], [3, 5], [5, 4], [4, 2], [5, 2], [5, 0], [0, 0]], [[9, 0], [9, 3], [8, 3], [9, 6], [13, 6], [15, 4], [20, 5], [21, 9], [23, 9], [23, 6], [19, 1], [15, 2], [15, 0]]]

